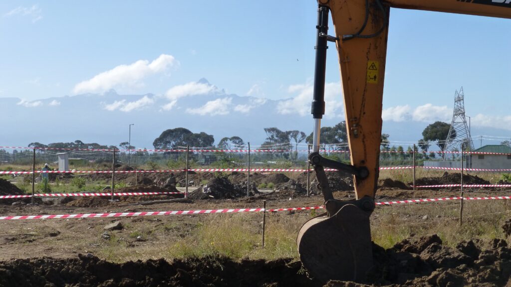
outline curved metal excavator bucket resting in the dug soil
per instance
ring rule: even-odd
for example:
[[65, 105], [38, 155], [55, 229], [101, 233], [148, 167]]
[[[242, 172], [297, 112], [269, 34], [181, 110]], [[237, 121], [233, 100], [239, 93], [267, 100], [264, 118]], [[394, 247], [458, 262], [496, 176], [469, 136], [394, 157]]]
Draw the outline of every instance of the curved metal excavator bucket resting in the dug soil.
[[373, 264], [369, 214], [344, 205], [307, 221], [298, 232], [300, 260], [320, 281], [363, 281]]

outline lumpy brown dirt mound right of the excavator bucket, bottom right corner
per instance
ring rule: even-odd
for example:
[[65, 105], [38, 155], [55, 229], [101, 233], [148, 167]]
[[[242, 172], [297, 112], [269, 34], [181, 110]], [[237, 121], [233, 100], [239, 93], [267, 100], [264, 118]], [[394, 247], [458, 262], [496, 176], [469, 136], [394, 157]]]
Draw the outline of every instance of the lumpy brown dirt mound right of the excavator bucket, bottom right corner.
[[504, 286], [511, 275], [511, 248], [503, 240], [442, 245], [436, 235], [410, 237], [387, 250], [374, 245], [368, 283], [404, 286]]

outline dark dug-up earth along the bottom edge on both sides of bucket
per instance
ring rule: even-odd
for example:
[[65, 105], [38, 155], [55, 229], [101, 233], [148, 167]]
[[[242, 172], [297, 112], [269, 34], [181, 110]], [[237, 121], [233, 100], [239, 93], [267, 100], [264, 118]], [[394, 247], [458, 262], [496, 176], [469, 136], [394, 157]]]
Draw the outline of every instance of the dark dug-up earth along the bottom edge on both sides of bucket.
[[[373, 246], [374, 268], [366, 284], [318, 282], [291, 259], [225, 257], [128, 261], [113, 264], [92, 254], [78, 258], [0, 262], [2, 286], [507, 286], [511, 248], [504, 240], [442, 245], [436, 235], [410, 237], [387, 250]], [[369, 285], [370, 284], [370, 285]]]

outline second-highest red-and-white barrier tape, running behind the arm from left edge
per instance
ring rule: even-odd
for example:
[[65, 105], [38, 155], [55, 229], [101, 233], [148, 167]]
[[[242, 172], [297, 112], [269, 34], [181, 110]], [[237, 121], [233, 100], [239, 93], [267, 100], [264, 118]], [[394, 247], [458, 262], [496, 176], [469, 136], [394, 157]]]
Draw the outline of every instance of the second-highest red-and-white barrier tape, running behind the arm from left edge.
[[[403, 170], [413, 169], [413, 166], [395, 166], [380, 168], [380, 170]], [[334, 172], [334, 169], [324, 169], [327, 172]], [[115, 171], [116, 174], [130, 174], [130, 173], [177, 173], [185, 172], [186, 170], [159, 170], [159, 171]], [[189, 172], [248, 172], [248, 169], [190, 169]], [[304, 169], [250, 169], [251, 172], [307, 172]], [[310, 170], [314, 171], [314, 170]], [[112, 171], [35, 171], [36, 174], [108, 174]], [[32, 172], [25, 171], [0, 171], [0, 174], [32, 174]]]

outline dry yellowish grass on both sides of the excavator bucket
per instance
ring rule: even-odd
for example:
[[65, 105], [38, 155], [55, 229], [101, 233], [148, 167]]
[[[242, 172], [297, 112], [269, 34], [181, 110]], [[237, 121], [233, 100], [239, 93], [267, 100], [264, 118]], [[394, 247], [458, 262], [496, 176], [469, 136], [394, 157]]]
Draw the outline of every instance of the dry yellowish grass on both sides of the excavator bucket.
[[[511, 215], [507, 201], [466, 201], [464, 222], [459, 225], [459, 202], [403, 204], [378, 207], [371, 217], [373, 241], [390, 248], [410, 235], [436, 233], [447, 246], [462, 240], [504, 238], [501, 226]], [[187, 258], [225, 255], [233, 259], [298, 259], [296, 235], [310, 219], [310, 212], [267, 214], [265, 247], [262, 247], [261, 213], [210, 214], [182, 222], [127, 225], [122, 234], [102, 245], [98, 255], [122, 262], [148, 258]], [[423, 219], [427, 216], [427, 219]], [[133, 247], [141, 235], [150, 244]]]

